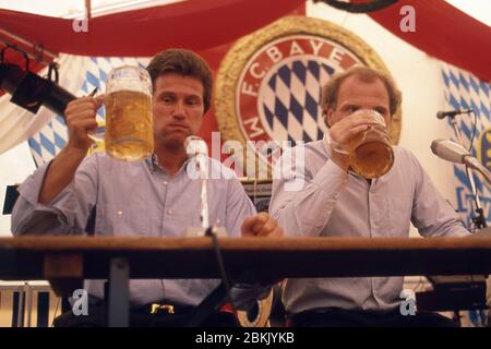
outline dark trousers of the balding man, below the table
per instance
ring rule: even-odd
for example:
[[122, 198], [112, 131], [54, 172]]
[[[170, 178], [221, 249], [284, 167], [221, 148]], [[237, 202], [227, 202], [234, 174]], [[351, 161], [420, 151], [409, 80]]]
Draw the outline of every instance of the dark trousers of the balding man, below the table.
[[438, 313], [402, 315], [399, 310], [378, 313], [345, 309], [322, 309], [289, 316], [292, 327], [457, 327], [455, 321]]

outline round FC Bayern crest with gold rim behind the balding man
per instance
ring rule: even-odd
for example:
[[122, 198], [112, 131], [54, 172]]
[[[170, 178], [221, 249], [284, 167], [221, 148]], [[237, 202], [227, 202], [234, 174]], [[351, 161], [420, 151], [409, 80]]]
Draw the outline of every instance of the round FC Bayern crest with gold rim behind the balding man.
[[[360, 38], [321, 20], [288, 16], [243, 37], [217, 73], [215, 109], [223, 139], [292, 145], [322, 139], [322, 86], [355, 64], [387, 72]], [[397, 143], [400, 115], [393, 121]]]

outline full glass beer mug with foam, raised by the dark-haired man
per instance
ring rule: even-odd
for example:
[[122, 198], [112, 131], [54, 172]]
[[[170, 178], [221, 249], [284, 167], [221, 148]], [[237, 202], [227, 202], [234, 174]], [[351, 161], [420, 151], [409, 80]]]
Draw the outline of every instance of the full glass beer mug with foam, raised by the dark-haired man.
[[140, 160], [154, 151], [152, 80], [139, 67], [123, 65], [106, 81], [106, 153], [119, 160]]

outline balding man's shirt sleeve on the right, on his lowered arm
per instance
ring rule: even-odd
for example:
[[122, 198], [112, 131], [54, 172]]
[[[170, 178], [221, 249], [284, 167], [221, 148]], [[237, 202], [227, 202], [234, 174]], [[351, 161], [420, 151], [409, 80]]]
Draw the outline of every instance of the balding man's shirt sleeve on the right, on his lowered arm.
[[416, 177], [411, 221], [419, 233], [423, 237], [469, 236], [470, 232], [463, 226], [451, 204], [439, 193], [418, 159], [409, 156]]

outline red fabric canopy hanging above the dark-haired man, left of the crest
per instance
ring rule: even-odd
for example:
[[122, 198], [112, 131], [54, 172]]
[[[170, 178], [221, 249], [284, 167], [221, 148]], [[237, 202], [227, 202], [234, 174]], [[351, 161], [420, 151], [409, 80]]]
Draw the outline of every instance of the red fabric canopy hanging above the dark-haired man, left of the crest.
[[94, 17], [79, 33], [73, 20], [0, 10], [0, 28], [53, 52], [149, 57], [168, 47], [203, 50], [230, 43], [303, 2], [191, 0]]

